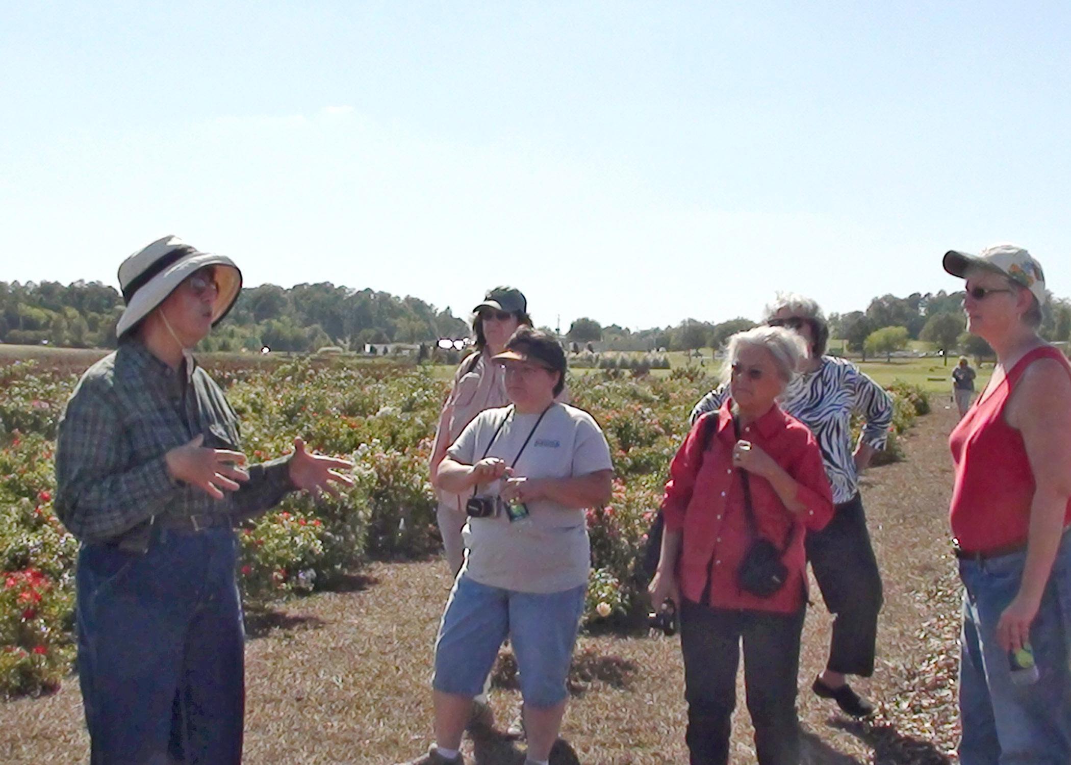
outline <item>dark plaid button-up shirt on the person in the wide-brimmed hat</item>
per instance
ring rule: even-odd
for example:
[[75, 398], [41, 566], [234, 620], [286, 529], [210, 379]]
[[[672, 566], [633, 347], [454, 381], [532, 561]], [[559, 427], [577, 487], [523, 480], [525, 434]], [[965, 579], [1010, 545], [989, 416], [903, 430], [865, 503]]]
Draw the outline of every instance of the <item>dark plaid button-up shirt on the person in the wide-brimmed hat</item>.
[[292, 489], [288, 458], [253, 465], [250, 480], [213, 499], [174, 481], [164, 455], [194, 436], [240, 449], [238, 417], [220, 387], [187, 356], [179, 372], [127, 341], [82, 375], [60, 421], [56, 514], [85, 542], [121, 540], [145, 550], [154, 516], [262, 512]]

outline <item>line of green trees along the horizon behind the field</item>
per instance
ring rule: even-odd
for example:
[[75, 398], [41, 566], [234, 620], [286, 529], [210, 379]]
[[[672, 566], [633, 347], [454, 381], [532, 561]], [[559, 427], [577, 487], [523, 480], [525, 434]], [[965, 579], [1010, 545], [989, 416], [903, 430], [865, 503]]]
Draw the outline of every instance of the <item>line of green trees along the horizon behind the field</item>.
[[[949, 352], [987, 356], [984, 341], [964, 331], [963, 297], [963, 291], [945, 290], [906, 298], [884, 295], [871, 300], [865, 311], [830, 314], [830, 336], [864, 358], [892, 354], [910, 340], [927, 341]], [[119, 292], [100, 282], [0, 282], [0, 342], [115, 347], [122, 309]], [[1043, 313], [1042, 336], [1071, 340], [1071, 301], [1051, 298]], [[584, 317], [573, 321], [565, 336], [580, 345], [599, 343], [607, 350], [718, 349], [729, 335], [754, 326], [743, 317], [720, 322], [687, 318], [676, 326], [632, 331]], [[337, 345], [360, 350], [367, 344], [431, 343], [467, 333], [467, 324], [450, 308], [440, 311], [414, 297], [329, 282], [289, 288], [265, 284], [242, 290], [227, 320], [201, 349], [256, 351], [268, 346], [311, 351]]]

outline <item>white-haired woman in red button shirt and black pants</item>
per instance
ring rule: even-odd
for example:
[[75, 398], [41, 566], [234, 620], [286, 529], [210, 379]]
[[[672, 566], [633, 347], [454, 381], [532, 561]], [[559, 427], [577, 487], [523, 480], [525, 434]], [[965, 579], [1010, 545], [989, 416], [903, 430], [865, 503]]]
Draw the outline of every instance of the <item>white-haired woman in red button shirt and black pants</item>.
[[[741, 640], [758, 762], [799, 762], [803, 539], [833, 514], [814, 436], [776, 404], [805, 352], [799, 335], [780, 327], [733, 335], [730, 398], [696, 421], [669, 466], [665, 534], [650, 591], [655, 603], [672, 598], [680, 604], [693, 765], [728, 761]], [[743, 590], [737, 579], [755, 539], [745, 492], [758, 534], [783, 551], [787, 569], [784, 584], [766, 598]]]

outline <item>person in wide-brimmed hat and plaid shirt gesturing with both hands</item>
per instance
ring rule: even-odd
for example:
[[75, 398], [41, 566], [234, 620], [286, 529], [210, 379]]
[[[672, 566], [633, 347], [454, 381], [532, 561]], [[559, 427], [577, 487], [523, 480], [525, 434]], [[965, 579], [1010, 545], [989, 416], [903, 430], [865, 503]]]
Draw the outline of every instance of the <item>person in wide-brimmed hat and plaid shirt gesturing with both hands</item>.
[[191, 349], [242, 286], [235, 264], [164, 237], [123, 260], [119, 348], [60, 421], [56, 514], [81, 541], [78, 674], [90, 762], [242, 760], [244, 632], [232, 527], [287, 492], [336, 490], [342, 460], [246, 465], [239, 423]]

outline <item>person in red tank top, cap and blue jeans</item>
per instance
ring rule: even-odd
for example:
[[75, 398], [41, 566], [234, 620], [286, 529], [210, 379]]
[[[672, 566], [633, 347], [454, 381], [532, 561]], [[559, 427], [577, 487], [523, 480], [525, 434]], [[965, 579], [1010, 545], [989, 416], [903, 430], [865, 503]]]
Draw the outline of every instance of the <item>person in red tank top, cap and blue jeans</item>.
[[944, 266], [966, 280], [967, 331], [997, 356], [949, 436], [960, 762], [1071, 763], [1071, 364], [1038, 336], [1047, 296], [1026, 250], [950, 251]]

